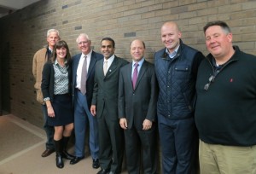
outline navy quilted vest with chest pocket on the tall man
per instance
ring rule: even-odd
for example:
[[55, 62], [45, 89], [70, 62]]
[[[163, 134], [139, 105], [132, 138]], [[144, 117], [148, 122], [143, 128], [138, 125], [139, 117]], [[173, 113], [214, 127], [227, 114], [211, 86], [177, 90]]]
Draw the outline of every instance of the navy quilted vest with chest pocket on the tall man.
[[204, 55], [180, 40], [177, 55], [172, 59], [166, 48], [154, 55], [156, 78], [160, 87], [157, 113], [169, 119], [194, 117], [195, 81]]

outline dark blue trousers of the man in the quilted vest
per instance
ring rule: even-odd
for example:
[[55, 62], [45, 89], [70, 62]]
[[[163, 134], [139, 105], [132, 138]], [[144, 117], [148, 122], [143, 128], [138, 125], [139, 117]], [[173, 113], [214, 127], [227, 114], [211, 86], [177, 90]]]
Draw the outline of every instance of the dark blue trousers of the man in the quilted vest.
[[194, 174], [198, 164], [194, 118], [173, 120], [158, 115], [158, 123], [163, 173]]

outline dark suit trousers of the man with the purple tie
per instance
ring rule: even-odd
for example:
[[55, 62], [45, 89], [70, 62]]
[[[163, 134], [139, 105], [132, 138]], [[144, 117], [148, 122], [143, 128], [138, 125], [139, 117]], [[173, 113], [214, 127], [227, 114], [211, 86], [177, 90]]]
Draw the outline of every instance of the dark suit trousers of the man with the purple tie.
[[148, 131], [137, 130], [134, 126], [125, 130], [126, 163], [129, 174], [139, 174], [141, 170], [144, 174], [157, 172], [156, 141], [155, 125]]

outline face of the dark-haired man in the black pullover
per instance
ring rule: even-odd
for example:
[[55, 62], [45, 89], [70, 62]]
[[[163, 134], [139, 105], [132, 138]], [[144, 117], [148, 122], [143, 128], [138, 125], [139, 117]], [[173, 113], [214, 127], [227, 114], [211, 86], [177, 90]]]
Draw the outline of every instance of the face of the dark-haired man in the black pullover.
[[232, 34], [226, 33], [221, 26], [210, 26], [205, 32], [208, 51], [216, 59], [230, 55], [232, 51]]

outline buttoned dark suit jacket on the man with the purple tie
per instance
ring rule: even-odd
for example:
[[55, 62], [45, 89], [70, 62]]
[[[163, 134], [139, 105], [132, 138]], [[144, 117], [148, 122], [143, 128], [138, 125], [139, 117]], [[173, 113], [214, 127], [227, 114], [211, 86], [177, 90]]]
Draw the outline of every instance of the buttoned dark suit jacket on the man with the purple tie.
[[131, 82], [132, 63], [122, 67], [119, 74], [119, 119], [127, 120], [128, 128], [134, 125], [143, 130], [143, 121], [155, 121], [158, 95], [154, 65], [143, 61], [135, 90]]

